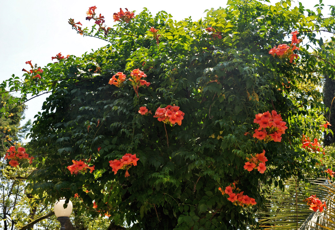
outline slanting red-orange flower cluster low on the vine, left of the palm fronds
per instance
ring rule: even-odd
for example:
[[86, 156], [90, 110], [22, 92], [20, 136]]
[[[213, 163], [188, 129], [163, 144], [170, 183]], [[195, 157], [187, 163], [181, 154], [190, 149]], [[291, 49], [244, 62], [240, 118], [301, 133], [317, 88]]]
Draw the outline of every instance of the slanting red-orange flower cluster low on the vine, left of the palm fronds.
[[231, 201], [234, 205], [240, 205], [242, 207], [244, 206], [251, 206], [256, 205], [256, 201], [254, 198], [250, 198], [247, 195], [243, 195], [244, 191], [240, 191], [239, 188], [236, 188], [235, 183], [230, 184], [226, 187], [224, 191], [222, 191], [222, 188], [219, 187], [219, 191], [222, 193], [222, 195], [228, 194], [228, 201]]

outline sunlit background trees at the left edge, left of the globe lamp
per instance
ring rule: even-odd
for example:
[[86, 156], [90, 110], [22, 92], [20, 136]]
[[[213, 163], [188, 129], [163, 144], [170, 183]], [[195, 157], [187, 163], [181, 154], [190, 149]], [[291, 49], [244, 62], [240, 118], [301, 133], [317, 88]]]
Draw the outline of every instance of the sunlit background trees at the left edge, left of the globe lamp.
[[[8, 101], [15, 100], [15, 97], [9, 94], [1, 94], [0, 109], [8, 105]], [[9, 229], [33, 229], [34, 224], [29, 225], [32, 221], [41, 218], [43, 215], [53, 215], [51, 206], [43, 204], [38, 205], [36, 201], [40, 201], [38, 196], [32, 195], [31, 190], [26, 190], [27, 174], [30, 173], [32, 168], [16, 168], [8, 165], [7, 160], [4, 159], [6, 150], [13, 145], [20, 146], [22, 139], [27, 131], [31, 128], [30, 120], [23, 126], [20, 122], [24, 119], [24, 104], [13, 105], [10, 104], [10, 112], [2, 113], [0, 117], [0, 128], [2, 132], [2, 148], [1, 148], [1, 162], [0, 162], [0, 210], [3, 223], [1, 227], [4, 230]], [[30, 191], [30, 192], [29, 192]], [[46, 216], [45, 218], [47, 218]], [[47, 223], [50, 229], [57, 226], [55, 218], [47, 220], [46, 222], [41, 219], [40, 226]], [[49, 223], [48, 223], [49, 222]], [[28, 225], [27, 225], [28, 224]]]

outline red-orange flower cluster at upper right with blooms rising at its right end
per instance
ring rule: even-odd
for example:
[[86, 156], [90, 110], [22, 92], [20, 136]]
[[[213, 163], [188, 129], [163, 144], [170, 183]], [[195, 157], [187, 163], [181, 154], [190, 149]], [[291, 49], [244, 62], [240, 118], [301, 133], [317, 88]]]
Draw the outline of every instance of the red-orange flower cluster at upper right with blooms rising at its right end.
[[300, 40], [298, 40], [296, 38], [296, 35], [299, 34], [298, 31], [294, 31], [291, 32], [292, 36], [292, 42], [291, 44], [288, 46], [286, 44], [281, 44], [279, 45], [277, 48], [276, 46], [274, 48], [272, 48], [269, 51], [269, 54], [272, 55], [272, 57], [274, 57], [274, 55], [276, 55], [278, 58], [288, 58], [290, 60], [290, 63], [293, 62], [294, 58], [298, 58], [297, 54], [294, 54], [293, 51], [294, 50], [299, 50], [299, 47], [296, 47], [294, 44], [297, 44], [300, 42]]

